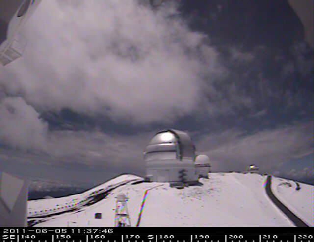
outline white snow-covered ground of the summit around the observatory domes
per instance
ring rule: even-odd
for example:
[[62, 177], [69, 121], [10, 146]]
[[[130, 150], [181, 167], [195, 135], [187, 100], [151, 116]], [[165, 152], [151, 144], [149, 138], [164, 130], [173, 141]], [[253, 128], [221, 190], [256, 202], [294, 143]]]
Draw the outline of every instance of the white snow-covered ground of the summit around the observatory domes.
[[[149, 189], [141, 227], [294, 226], [268, 198], [264, 187], [266, 179], [266, 176], [250, 173], [209, 173], [209, 179], [201, 178], [199, 185], [177, 189], [169, 183], [148, 183], [138, 176], [121, 175], [81, 194], [30, 201], [28, 222], [43, 227], [114, 226], [115, 197], [124, 193], [129, 198], [131, 226], [135, 226], [143, 194]], [[279, 178], [273, 179], [274, 186], [277, 180]], [[295, 193], [289, 205], [299, 218], [312, 221], [313, 208], [309, 204], [313, 201], [313, 186], [302, 183], [300, 186], [304, 190]], [[286, 199], [291, 192], [280, 188], [280, 195], [280, 200]], [[95, 219], [95, 213], [102, 213], [103, 218]]]

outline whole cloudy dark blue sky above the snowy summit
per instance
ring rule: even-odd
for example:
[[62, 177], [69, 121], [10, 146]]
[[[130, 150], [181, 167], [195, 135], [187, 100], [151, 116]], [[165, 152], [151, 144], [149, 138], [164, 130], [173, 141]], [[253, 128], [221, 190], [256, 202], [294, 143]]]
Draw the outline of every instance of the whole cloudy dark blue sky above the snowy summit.
[[175, 128], [213, 171], [313, 184], [313, 49], [288, 1], [147, 2], [40, 4], [23, 57], [0, 67], [0, 169], [143, 176], [144, 146]]

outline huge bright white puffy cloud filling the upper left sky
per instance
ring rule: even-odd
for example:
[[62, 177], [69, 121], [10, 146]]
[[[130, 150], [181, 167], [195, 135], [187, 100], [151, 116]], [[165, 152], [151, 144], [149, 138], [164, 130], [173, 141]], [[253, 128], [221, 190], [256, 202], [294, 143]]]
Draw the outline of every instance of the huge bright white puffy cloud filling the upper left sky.
[[217, 51], [189, 30], [176, 4], [135, 0], [43, 1], [25, 28], [28, 47], [1, 70], [11, 93], [46, 109], [173, 121], [202, 98], [202, 78], [221, 72]]

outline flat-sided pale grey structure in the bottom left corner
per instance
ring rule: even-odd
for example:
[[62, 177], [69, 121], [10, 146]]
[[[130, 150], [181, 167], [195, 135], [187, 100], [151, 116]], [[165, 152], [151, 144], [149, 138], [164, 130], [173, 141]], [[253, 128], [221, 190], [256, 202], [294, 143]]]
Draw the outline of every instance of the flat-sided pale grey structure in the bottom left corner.
[[0, 171], [0, 227], [27, 226], [28, 181]]

